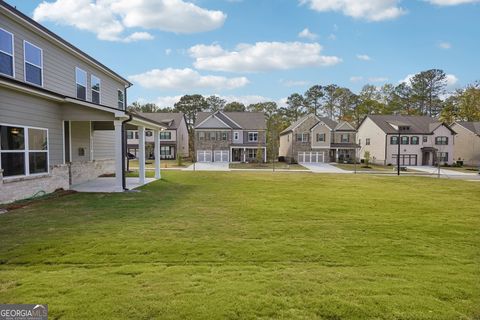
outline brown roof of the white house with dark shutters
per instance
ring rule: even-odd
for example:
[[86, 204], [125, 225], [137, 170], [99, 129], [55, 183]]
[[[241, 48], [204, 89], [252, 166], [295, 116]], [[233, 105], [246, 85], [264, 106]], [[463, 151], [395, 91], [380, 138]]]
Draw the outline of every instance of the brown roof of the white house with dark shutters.
[[380, 129], [382, 129], [383, 132], [387, 134], [398, 133], [398, 131], [392, 127], [391, 124], [409, 126], [410, 130], [408, 133], [416, 134], [431, 134], [438, 127], [444, 125], [447, 127], [447, 129], [455, 134], [455, 131], [453, 131], [447, 124], [429, 116], [368, 115], [360, 123], [360, 126], [367, 118], [370, 118], [370, 120], [372, 120]]

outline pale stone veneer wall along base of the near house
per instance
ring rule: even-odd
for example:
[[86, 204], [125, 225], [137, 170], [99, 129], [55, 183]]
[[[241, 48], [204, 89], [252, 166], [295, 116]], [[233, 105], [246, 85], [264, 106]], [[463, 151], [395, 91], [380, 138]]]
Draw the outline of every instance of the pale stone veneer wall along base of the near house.
[[0, 170], [0, 203], [25, 199], [39, 191], [70, 189], [70, 185], [94, 180], [115, 172], [115, 160], [94, 160], [50, 166], [50, 173], [20, 178], [3, 178]]

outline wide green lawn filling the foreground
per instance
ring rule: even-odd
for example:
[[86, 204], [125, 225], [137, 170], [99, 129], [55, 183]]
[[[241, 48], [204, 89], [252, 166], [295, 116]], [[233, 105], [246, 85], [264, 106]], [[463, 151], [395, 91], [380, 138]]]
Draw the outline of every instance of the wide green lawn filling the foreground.
[[480, 184], [163, 172], [0, 215], [0, 302], [50, 319], [480, 319]]

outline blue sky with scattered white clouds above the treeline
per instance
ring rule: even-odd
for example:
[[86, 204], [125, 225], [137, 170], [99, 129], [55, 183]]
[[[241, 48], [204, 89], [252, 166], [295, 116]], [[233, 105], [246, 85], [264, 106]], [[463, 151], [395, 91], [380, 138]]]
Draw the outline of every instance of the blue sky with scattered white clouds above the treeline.
[[281, 101], [430, 68], [449, 74], [450, 89], [480, 80], [479, 0], [7, 2], [129, 78], [129, 102]]

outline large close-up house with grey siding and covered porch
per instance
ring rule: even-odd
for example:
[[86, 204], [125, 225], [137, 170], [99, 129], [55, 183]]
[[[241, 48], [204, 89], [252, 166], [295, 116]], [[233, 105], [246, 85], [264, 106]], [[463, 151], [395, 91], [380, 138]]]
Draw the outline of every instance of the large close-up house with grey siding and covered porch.
[[115, 173], [123, 190], [125, 121], [164, 128], [125, 111], [130, 86], [0, 1], [0, 203], [105, 173]]

